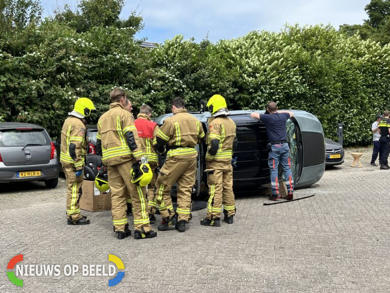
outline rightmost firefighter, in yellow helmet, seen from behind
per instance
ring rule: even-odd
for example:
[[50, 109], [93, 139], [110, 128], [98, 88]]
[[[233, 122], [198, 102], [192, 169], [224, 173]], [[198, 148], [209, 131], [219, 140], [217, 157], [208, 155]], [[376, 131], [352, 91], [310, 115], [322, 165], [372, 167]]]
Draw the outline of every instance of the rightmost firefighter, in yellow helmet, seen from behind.
[[207, 103], [211, 118], [208, 119], [206, 170], [209, 200], [204, 226], [220, 226], [221, 206], [223, 220], [233, 224], [236, 205], [233, 193], [232, 155], [237, 147], [236, 124], [228, 117], [230, 112], [221, 95], [214, 95]]

